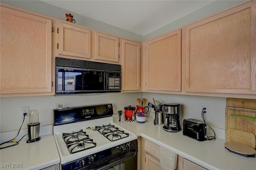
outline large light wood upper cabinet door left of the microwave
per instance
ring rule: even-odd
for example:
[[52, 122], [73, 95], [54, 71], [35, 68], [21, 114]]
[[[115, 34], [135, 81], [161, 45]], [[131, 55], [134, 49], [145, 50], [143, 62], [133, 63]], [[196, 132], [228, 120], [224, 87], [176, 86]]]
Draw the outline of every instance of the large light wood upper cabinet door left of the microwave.
[[1, 96], [51, 92], [52, 21], [4, 6], [0, 11]]

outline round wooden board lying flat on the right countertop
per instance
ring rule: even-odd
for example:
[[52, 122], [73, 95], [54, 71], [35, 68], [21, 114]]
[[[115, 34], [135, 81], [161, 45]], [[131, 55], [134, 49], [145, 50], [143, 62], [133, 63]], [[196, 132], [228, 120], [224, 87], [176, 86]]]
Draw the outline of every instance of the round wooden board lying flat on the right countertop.
[[230, 152], [240, 154], [242, 156], [255, 157], [256, 150], [242, 143], [238, 142], [226, 142], [224, 144], [225, 148], [227, 148]]

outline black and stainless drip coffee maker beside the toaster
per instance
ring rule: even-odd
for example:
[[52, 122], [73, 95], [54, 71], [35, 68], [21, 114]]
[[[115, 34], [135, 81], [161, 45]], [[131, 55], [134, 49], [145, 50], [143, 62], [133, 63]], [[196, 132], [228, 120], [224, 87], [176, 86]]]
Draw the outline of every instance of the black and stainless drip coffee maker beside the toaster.
[[178, 132], [181, 128], [180, 121], [180, 104], [179, 103], [166, 103], [163, 105], [164, 112], [164, 127], [163, 129], [168, 132]]

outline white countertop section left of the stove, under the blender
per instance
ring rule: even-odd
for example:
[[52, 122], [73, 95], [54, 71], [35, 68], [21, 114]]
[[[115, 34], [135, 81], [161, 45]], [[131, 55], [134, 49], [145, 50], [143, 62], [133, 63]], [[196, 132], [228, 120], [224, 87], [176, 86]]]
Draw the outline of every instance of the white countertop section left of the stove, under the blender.
[[[4, 144], [1, 147], [4, 147]], [[0, 162], [1, 170], [35, 170], [59, 164], [60, 157], [53, 134], [46, 134], [42, 135], [41, 140], [37, 142], [26, 143], [24, 138], [16, 146], [1, 149]]]

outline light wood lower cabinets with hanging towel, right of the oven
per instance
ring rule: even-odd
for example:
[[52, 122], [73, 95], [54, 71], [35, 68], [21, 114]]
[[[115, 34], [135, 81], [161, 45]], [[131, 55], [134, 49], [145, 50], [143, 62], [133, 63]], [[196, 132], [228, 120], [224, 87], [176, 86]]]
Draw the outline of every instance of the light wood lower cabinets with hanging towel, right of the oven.
[[[139, 137], [138, 141], [138, 170], [172, 170], [169, 166], [162, 167], [164, 164], [160, 162], [164, 154], [163, 147], [143, 137]], [[177, 161], [172, 165], [176, 170], [207, 170], [182, 156], [176, 155], [176, 158]]]

